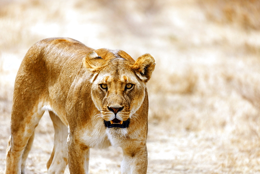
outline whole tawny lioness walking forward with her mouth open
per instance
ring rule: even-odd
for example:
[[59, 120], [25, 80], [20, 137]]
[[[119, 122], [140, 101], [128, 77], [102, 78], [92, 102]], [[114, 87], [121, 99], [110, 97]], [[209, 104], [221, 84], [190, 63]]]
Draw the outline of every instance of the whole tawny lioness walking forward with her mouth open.
[[55, 130], [48, 173], [88, 173], [89, 149], [119, 146], [122, 173], [147, 171], [146, 82], [154, 58], [94, 50], [70, 38], [36, 42], [18, 70], [5, 173], [25, 173], [34, 130], [45, 110]]

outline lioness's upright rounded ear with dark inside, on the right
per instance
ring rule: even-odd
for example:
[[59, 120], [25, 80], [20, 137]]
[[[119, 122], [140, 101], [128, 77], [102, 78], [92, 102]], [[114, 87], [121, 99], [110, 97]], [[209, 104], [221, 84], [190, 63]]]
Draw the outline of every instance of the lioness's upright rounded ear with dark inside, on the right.
[[147, 82], [151, 78], [154, 67], [155, 60], [153, 56], [146, 53], [135, 61], [132, 69], [141, 80]]

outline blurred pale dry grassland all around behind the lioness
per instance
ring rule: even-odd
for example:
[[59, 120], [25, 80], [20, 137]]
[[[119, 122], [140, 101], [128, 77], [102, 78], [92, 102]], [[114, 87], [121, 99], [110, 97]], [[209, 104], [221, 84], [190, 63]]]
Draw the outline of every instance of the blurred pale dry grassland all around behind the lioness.
[[[0, 173], [17, 70], [49, 37], [154, 56], [147, 173], [260, 172], [259, 0], [0, 0]], [[26, 171], [47, 173], [48, 114], [36, 129]], [[121, 160], [91, 150], [89, 172], [120, 173]]]

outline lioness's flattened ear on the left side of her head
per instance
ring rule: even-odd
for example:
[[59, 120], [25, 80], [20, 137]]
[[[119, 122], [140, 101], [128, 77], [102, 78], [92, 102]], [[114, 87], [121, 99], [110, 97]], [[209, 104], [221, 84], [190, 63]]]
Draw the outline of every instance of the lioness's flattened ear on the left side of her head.
[[91, 51], [83, 59], [83, 66], [90, 72], [97, 73], [103, 60], [95, 51]]

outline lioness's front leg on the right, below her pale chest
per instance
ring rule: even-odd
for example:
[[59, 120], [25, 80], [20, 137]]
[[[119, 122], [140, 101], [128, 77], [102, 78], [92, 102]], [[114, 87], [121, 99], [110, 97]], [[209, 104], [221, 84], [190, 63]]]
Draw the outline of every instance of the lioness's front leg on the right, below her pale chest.
[[121, 173], [146, 173], [147, 164], [146, 145], [130, 145], [129, 147], [123, 148]]

